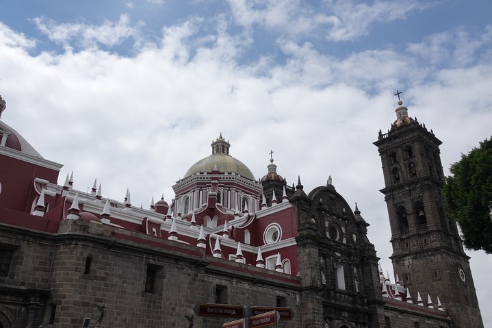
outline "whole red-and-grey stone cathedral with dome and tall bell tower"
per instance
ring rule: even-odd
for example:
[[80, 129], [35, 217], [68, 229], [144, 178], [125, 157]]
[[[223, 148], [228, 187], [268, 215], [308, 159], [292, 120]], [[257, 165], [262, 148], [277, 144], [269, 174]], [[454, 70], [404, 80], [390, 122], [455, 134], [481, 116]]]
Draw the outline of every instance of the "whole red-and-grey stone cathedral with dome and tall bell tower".
[[[77, 190], [0, 121], [0, 328], [251, 328], [270, 325], [252, 319], [270, 311], [285, 328], [483, 327], [443, 205], [441, 141], [398, 104], [374, 142], [394, 281], [370, 218], [331, 177], [288, 186], [271, 157], [255, 179], [220, 134], [173, 199], [142, 208], [97, 181]], [[0, 119], [5, 108], [0, 97]]]

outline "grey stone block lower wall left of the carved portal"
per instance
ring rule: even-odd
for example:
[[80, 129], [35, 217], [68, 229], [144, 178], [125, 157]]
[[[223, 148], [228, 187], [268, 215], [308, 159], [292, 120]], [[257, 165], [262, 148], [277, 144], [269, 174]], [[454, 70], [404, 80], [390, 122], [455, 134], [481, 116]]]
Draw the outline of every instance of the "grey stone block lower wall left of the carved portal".
[[[194, 246], [122, 232], [94, 221], [66, 220], [60, 232], [0, 229], [0, 242], [16, 247], [17, 258], [12, 277], [0, 283], [17, 292], [26, 288], [45, 292], [38, 299], [31, 327], [78, 328], [85, 317], [94, 327], [97, 305], [103, 303], [107, 309], [103, 327], [188, 327], [185, 316], [193, 315], [195, 327], [220, 327], [235, 319], [198, 317], [193, 312], [196, 303], [215, 303], [218, 287], [225, 303], [275, 307], [280, 300], [299, 313], [298, 277], [209, 257]], [[155, 278], [151, 292], [146, 292], [148, 268]], [[5, 300], [5, 295], [0, 294], [0, 299]], [[1, 314], [0, 307], [0, 317], [13, 317], [5, 328], [29, 327], [29, 297], [16, 302], [11, 314]], [[55, 309], [53, 318], [51, 309]], [[298, 327], [298, 318], [279, 327]]]

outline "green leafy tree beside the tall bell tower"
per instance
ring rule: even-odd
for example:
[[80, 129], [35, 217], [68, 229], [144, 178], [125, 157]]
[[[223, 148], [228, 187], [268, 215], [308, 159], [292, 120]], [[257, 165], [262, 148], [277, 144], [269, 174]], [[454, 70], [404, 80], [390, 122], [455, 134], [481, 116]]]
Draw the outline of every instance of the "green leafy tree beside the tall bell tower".
[[468, 155], [451, 165], [445, 179], [444, 200], [448, 215], [461, 228], [467, 249], [492, 253], [492, 138], [480, 142]]

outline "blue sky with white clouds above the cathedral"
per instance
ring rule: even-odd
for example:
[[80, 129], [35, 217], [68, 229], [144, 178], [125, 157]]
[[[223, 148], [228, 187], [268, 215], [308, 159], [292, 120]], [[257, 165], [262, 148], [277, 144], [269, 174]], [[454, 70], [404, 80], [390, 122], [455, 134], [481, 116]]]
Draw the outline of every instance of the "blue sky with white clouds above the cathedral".
[[[396, 90], [443, 142], [445, 175], [491, 136], [491, 20], [489, 0], [0, 0], [1, 119], [64, 164], [60, 184], [73, 171], [144, 208], [220, 133], [257, 178], [274, 151], [288, 184], [331, 175], [357, 202], [392, 277], [372, 142]], [[492, 327], [492, 255], [467, 254]]]

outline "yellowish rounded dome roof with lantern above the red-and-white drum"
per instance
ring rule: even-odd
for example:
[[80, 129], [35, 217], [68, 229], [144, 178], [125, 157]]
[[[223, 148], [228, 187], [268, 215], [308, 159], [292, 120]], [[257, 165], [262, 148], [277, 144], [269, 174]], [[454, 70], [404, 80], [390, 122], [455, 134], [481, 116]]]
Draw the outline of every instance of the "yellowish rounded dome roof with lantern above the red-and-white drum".
[[251, 180], [255, 179], [248, 166], [229, 155], [231, 144], [222, 137], [222, 134], [220, 134], [215, 141], [212, 141], [211, 147], [212, 154], [193, 164], [188, 171], [186, 171], [183, 178], [190, 177], [195, 173], [211, 172], [218, 169], [218, 171], [222, 173], [234, 172], [242, 177], [247, 177]]

